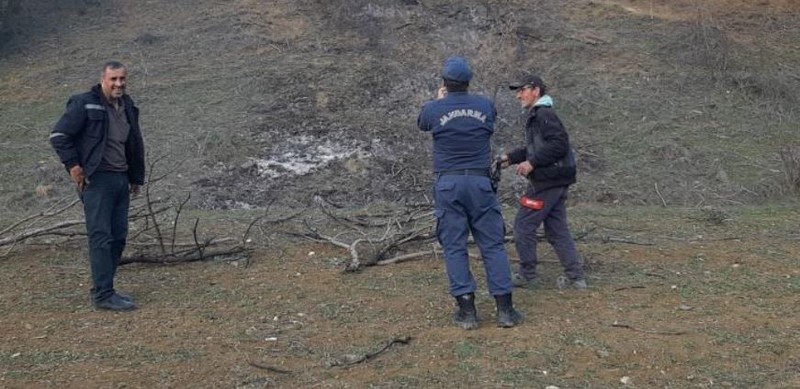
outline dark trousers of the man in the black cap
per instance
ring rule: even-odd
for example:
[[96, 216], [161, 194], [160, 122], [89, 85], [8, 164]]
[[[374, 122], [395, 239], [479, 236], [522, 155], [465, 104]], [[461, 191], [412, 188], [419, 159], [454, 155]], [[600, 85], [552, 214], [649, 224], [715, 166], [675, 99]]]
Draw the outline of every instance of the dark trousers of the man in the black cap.
[[519, 255], [519, 273], [527, 279], [537, 276], [536, 266], [539, 259], [536, 255], [536, 230], [544, 223], [544, 233], [554, 251], [564, 273], [571, 280], [583, 279], [583, 264], [575, 247], [575, 240], [567, 224], [568, 187], [556, 187], [536, 193], [528, 186], [525, 196], [530, 199], [544, 201], [544, 208], [533, 210], [520, 206], [514, 221], [514, 241]]

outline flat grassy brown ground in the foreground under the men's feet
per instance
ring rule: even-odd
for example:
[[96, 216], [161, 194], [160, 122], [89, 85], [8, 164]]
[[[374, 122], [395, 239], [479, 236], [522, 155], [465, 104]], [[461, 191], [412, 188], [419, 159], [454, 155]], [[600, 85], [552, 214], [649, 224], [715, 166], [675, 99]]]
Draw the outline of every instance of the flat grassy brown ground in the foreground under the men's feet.
[[276, 240], [249, 265], [125, 266], [118, 287], [140, 309], [117, 314], [88, 303], [85, 249], [26, 251], [2, 262], [0, 386], [800, 385], [796, 207], [572, 215], [590, 231], [589, 291], [551, 286], [560, 268], [545, 245], [548, 286], [515, 293], [527, 320], [506, 330], [477, 262], [481, 327], [465, 332], [440, 259], [345, 274], [343, 250]]

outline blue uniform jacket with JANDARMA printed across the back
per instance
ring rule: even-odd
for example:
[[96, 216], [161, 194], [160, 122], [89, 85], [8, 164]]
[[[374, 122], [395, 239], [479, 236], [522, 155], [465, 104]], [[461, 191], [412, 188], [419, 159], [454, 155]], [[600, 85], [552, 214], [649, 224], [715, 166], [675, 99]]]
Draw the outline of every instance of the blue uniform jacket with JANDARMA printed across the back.
[[417, 125], [433, 135], [433, 170], [488, 169], [496, 118], [494, 103], [467, 92], [426, 103]]

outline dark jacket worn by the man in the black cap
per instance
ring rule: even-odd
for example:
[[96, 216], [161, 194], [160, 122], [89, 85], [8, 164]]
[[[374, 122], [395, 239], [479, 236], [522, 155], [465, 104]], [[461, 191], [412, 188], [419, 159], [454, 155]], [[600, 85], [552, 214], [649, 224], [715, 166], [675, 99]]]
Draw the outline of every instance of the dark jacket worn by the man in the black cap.
[[530, 110], [525, 139], [526, 146], [509, 153], [508, 160], [511, 164], [527, 160], [533, 165], [528, 179], [536, 192], [575, 183], [575, 153], [551, 105], [536, 105]]

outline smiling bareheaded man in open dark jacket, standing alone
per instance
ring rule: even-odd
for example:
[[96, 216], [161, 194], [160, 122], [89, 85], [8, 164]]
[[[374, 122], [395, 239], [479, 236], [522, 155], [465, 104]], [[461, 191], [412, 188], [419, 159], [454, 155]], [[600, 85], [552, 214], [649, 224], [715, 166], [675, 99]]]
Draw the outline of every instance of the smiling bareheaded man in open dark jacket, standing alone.
[[139, 109], [125, 94], [128, 70], [111, 61], [100, 84], [70, 97], [50, 135], [50, 143], [75, 183], [83, 202], [92, 302], [98, 309], [130, 311], [133, 299], [114, 290], [128, 235], [130, 195], [144, 184], [144, 141]]

